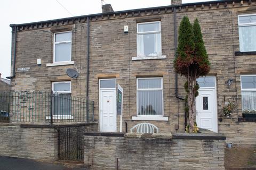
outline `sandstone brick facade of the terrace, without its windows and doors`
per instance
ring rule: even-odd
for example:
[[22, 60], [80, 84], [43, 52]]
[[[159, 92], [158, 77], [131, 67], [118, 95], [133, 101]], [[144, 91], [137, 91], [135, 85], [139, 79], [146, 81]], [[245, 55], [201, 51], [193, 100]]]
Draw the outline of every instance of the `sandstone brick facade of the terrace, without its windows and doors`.
[[[239, 51], [238, 19], [241, 13], [256, 13], [254, 1], [227, 1], [202, 4], [183, 4], [177, 6], [177, 25], [183, 16], [188, 15], [190, 21], [198, 18], [201, 24], [205, 47], [211, 62], [209, 75], [217, 78], [218, 115], [227, 101], [236, 105], [233, 118], [242, 116], [241, 74], [255, 74], [256, 55], [236, 56]], [[89, 98], [94, 100], [95, 120], [99, 119], [99, 79], [116, 78], [124, 88], [123, 127], [127, 122], [130, 129], [137, 123], [155, 124], [160, 132], [184, 131], [184, 103], [175, 98], [174, 59], [174, 14], [173, 6], [134, 10], [130, 12], [90, 15], [90, 69]], [[164, 60], [132, 61], [137, 56], [137, 22], [138, 20], [161, 21], [162, 55]], [[129, 33], [124, 33], [124, 25], [129, 25]], [[73, 65], [46, 67], [53, 61], [53, 32], [72, 31]], [[77, 97], [86, 96], [86, 65], [87, 65], [87, 17], [65, 19], [39, 24], [18, 25], [17, 56], [15, 68], [30, 67], [29, 71], [16, 72], [12, 79], [12, 90], [51, 90], [51, 82], [71, 80], [71, 91]], [[14, 43], [14, 42], [12, 42]], [[13, 50], [13, 49], [12, 49]], [[36, 60], [41, 58], [42, 65], [37, 66]], [[13, 67], [13, 53], [12, 53]], [[70, 79], [66, 69], [78, 71], [77, 79]], [[136, 78], [163, 77], [164, 116], [169, 121], [132, 121], [136, 111]], [[225, 83], [234, 79], [230, 87]], [[179, 77], [179, 95], [185, 97], [184, 79]], [[225, 125], [226, 124], [226, 125]], [[243, 133], [256, 136], [256, 123], [241, 122], [233, 126], [230, 118], [219, 122], [219, 132], [236, 134], [237, 128]], [[229, 126], [228, 126], [229, 125]], [[177, 127], [177, 126], [176, 126]], [[119, 117], [117, 117], [117, 131]], [[253, 131], [254, 130], [254, 131]], [[228, 138], [231, 140], [231, 138]], [[234, 138], [232, 138], [234, 139]], [[234, 142], [240, 142], [234, 139]], [[252, 142], [255, 142], [252, 140]]]

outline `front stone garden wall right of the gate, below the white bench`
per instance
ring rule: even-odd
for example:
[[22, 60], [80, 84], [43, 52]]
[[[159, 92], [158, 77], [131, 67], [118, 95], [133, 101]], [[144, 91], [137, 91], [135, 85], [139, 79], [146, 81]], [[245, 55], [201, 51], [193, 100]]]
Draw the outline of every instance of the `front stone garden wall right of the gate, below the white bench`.
[[225, 169], [218, 134], [84, 133], [84, 162], [92, 169]]

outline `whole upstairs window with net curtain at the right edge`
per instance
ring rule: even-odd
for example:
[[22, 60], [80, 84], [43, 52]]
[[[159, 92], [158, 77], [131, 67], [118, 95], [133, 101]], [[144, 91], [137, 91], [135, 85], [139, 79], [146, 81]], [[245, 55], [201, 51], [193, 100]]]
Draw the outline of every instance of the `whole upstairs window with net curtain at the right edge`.
[[241, 52], [256, 51], [256, 14], [238, 15]]

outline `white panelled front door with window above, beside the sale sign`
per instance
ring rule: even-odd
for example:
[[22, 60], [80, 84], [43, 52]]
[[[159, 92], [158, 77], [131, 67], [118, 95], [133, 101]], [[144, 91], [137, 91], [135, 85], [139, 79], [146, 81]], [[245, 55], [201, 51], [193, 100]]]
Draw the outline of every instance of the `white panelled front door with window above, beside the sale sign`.
[[100, 79], [100, 131], [116, 132], [116, 79]]

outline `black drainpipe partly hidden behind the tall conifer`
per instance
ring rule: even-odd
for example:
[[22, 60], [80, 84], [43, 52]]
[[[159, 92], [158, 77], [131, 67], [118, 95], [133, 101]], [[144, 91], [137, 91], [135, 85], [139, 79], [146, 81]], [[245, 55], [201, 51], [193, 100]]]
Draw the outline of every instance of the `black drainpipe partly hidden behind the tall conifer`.
[[[177, 16], [176, 16], [176, 7], [173, 9], [173, 18], [174, 18], [174, 54], [177, 54]], [[179, 86], [178, 86], [178, 73], [175, 72], [175, 97], [180, 100], [185, 100], [181, 96], [179, 96]], [[186, 104], [185, 104], [186, 105]], [[178, 106], [179, 107], [179, 106]], [[179, 118], [179, 111], [178, 111], [178, 118]], [[185, 128], [187, 126], [187, 113], [185, 112]]]

